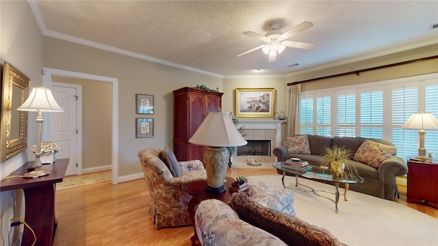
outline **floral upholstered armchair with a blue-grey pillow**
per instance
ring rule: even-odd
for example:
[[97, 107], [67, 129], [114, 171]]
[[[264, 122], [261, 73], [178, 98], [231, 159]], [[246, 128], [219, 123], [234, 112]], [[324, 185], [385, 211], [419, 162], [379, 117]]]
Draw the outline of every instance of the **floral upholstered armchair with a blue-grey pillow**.
[[188, 204], [192, 195], [187, 185], [207, 180], [199, 160], [177, 161], [169, 148], [149, 148], [138, 152], [144, 178], [151, 194], [149, 213], [157, 229], [192, 225]]

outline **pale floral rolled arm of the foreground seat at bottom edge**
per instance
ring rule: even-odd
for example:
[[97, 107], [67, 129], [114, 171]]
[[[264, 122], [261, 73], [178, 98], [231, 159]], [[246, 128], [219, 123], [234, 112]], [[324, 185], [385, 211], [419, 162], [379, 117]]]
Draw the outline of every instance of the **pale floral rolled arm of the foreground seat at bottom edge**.
[[276, 236], [239, 219], [220, 200], [204, 200], [196, 209], [195, 228], [203, 246], [286, 245]]

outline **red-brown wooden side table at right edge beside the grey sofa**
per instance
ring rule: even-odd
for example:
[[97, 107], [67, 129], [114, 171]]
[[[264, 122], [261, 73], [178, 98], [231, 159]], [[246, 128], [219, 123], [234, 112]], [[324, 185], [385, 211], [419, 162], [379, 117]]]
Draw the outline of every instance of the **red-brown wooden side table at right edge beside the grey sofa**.
[[438, 160], [422, 163], [408, 160], [407, 202], [424, 202], [438, 206]]

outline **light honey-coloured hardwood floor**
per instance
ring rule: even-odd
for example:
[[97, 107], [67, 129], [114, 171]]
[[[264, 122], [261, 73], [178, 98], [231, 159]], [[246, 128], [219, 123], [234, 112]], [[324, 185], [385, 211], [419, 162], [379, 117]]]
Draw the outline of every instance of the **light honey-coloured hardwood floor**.
[[[227, 176], [279, 175], [276, 169], [229, 169]], [[279, 175], [279, 178], [281, 176]], [[406, 202], [406, 187], [399, 187], [400, 204], [438, 218], [438, 209]], [[56, 192], [58, 221], [54, 246], [179, 245], [190, 246], [193, 227], [156, 230], [149, 215], [151, 197], [144, 179], [113, 185], [102, 182]]]

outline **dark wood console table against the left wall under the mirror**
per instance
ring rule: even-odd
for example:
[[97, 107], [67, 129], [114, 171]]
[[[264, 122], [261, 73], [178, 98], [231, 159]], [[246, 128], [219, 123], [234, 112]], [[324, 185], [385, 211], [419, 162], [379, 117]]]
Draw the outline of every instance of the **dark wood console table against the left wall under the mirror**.
[[[23, 189], [25, 195], [25, 221], [36, 234], [35, 245], [52, 245], [57, 221], [55, 219], [55, 184], [62, 182], [69, 159], [57, 159], [55, 163], [42, 165], [42, 170], [50, 172], [40, 178], [5, 178], [0, 182], [0, 191]], [[21, 176], [27, 173], [27, 167], [32, 167], [34, 161], [29, 161], [12, 172], [10, 176]], [[21, 245], [31, 245], [34, 235], [25, 227]]]

